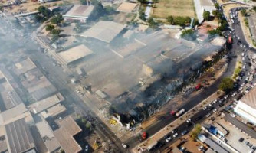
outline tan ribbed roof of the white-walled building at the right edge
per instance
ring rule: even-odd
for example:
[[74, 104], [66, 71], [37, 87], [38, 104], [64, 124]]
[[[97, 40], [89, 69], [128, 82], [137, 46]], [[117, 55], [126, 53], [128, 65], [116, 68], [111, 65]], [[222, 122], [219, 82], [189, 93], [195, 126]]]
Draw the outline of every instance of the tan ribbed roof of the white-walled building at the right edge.
[[253, 109], [256, 109], [256, 87], [251, 89], [251, 91], [249, 91], [249, 93], [243, 96], [239, 101], [251, 106]]

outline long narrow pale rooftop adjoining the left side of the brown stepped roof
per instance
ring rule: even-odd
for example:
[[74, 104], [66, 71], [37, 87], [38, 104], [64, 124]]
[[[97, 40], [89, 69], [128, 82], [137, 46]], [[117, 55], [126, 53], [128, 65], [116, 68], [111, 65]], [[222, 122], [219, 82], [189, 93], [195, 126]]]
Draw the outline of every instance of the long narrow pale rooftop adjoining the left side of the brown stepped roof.
[[34, 122], [36, 122], [36, 126], [38, 128], [38, 132], [43, 138], [44, 144], [46, 148], [48, 148], [49, 152], [57, 151], [57, 149], [61, 148], [60, 143], [55, 138], [53, 131], [51, 130], [50, 125], [42, 116], [34, 116]]

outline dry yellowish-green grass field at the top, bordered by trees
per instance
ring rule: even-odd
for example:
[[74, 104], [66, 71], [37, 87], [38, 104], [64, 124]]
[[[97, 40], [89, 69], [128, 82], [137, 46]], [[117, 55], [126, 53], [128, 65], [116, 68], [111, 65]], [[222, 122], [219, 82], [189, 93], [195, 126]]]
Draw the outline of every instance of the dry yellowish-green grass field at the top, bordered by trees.
[[192, 0], [159, 0], [151, 12], [154, 18], [172, 16], [195, 17], [194, 2]]

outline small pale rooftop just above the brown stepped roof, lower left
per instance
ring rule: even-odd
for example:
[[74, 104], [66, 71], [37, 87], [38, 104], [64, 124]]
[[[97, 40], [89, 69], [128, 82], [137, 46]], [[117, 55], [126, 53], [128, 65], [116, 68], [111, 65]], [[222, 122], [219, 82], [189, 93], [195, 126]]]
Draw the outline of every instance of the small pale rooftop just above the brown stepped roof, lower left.
[[47, 119], [50, 116], [55, 117], [61, 114], [62, 112], [65, 112], [66, 110], [67, 110], [66, 107], [59, 103], [56, 106], [52, 106], [51, 108], [41, 112], [41, 116], [43, 116], [44, 119]]

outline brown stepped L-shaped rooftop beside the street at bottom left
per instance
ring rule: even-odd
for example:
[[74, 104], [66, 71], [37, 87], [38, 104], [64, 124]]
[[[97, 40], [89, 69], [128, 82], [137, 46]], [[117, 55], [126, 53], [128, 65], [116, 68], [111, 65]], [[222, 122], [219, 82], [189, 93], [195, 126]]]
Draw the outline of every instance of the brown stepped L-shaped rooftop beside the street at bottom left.
[[73, 136], [82, 130], [74, 121], [74, 119], [72, 119], [71, 116], [67, 116], [64, 119], [59, 120], [58, 124], [61, 127], [54, 131], [54, 135], [60, 142], [64, 151], [66, 153], [77, 153], [81, 151], [82, 148], [77, 144]]

